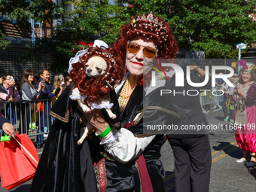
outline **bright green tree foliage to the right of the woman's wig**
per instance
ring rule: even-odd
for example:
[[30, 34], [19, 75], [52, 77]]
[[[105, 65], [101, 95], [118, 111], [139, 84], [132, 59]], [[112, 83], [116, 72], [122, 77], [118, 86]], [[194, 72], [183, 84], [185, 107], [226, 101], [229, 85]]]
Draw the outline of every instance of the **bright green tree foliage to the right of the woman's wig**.
[[237, 56], [236, 44], [256, 42], [256, 23], [249, 17], [255, 2], [244, 0], [120, 0], [130, 13], [152, 11], [172, 25], [181, 50], [204, 50], [207, 58]]

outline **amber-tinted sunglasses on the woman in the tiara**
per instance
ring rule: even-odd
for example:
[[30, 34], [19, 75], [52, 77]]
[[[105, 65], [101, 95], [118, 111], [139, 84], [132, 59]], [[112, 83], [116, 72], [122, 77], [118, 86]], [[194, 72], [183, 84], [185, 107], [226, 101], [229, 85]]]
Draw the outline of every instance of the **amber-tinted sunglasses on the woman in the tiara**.
[[[130, 44], [128, 44], [127, 50], [129, 53], [136, 54], [139, 52], [141, 47], [143, 47], [143, 46], [140, 46], [139, 44], [130, 42]], [[143, 55], [145, 57], [147, 57], [148, 59], [153, 58], [156, 55], [156, 53], [157, 53], [157, 50], [152, 47], [144, 47], [143, 48]]]

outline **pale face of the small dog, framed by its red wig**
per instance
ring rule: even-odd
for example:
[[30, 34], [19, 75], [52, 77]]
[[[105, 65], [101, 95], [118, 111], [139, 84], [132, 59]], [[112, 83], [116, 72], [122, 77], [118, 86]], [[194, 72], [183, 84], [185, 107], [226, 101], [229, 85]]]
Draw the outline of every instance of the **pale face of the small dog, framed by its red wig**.
[[91, 78], [98, 78], [105, 74], [107, 70], [107, 62], [100, 56], [93, 56], [85, 63], [86, 75]]

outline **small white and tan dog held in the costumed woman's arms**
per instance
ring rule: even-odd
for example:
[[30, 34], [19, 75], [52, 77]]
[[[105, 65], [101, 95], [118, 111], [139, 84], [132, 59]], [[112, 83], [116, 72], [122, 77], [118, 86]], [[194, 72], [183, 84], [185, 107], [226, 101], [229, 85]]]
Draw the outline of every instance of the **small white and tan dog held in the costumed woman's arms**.
[[[93, 78], [98, 79], [102, 78], [102, 75], [105, 75], [107, 69], [108, 69], [108, 64], [100, 56], [93, 56], [88, 61], [85, 63], [85, 74], [87, 77], [90, 79]], [[108, 84], [108, 81], [106, 81]], [[110, 84], [108, 84], [110, 86]], [[84, 112], [90, 112], [94, 108], [105, 108], [106, 111], [108, 112], [108, 116], [111, 117], [112, 119], [116, 118], [117, 116], [111, 111], [111, 107], [113, 106], [112, 103], [110, 103], [110, 97], [108, 95], [105, 95], [102, 98], [99, 98], [96, 102], [90, 103], [90, 108], [84, 104], [84, 99], [87, 98], [87, 96], [84, 96], [81, 94], [81, 92], [78, 90], [78, 87], [76, 87], [74, 90], [72, 90], [72, 95], [70, 96], [71, 99], [78, 101], [78, 105], [82, 108]], [[82, 120], [84, 121], [84, 120]], [[89, 121], [87, 121], [87, 126], [84, 129], [84, 134], [81, 136], [81, 139], [78, 140], [78, 145], [81, 145], [84, 142], [84, 139], [87, 138], [88, 133], [92, 133], [90, 131], [92, 128], [91, 124]]]

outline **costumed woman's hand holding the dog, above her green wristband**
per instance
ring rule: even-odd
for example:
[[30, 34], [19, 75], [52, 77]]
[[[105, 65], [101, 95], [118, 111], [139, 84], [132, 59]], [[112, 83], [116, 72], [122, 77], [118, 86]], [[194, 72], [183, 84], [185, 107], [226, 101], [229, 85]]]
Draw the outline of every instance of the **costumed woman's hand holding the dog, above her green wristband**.
[[78, 105], [78, 109], [87, 117], [91, 125], [95, 127], [98, 135], [107, 129], [108, 123], [105, 121], [100, 109], [94, 109], [88, 113], [84, 112], [80, 105]]

